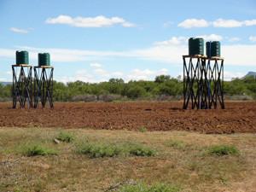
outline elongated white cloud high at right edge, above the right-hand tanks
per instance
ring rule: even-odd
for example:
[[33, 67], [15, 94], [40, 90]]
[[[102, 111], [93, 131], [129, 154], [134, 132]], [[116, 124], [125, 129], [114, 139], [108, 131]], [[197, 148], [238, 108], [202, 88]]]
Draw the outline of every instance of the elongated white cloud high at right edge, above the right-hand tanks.
[[255, 26], [256, 20], [224, 20], [218, 19], [214, 21], [207, 21], [207, 20], [196, 20], [196, 19], [188, 19], [184, 20], [177, 26], [181, 26], [183, 28], [193, 28], [193, 27], [207, 27], [207, 26], [214, 26], [214, 27], [239, 27], [239, 26]]

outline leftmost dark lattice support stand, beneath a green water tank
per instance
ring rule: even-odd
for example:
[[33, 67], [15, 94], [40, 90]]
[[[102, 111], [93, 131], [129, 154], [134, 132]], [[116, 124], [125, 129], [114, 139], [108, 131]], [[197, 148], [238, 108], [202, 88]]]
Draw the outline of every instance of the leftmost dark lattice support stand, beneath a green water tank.
[[[32, 65], [20, 64], [12, 65], [13, 70], [13, 108], [17, 108], [17, 102], [20, 108], [32, 108]], [[19, 74], [18, 74], [19, 73]]]

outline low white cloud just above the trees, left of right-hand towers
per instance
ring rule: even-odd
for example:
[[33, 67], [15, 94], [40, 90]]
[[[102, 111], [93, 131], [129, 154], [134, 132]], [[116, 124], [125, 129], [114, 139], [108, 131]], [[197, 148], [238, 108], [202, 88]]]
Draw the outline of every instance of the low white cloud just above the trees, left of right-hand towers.
[[158, 71], [154, 71], [154, 70], [149, 70], [149, 69], [145, 69], [143, 71], [139, 70], [139, 69], [134, 69], [133, 71], [131, 71], [131, 73], [129, 75], [126, 76], [126, 79], [128, 80], [148, 80], [148, 78], [151, 76], [156, 76], [156, 75], [160, 75], [160, 74], [166, 74], [167, 73], [167, 69], [166, 68], [162, 68]]

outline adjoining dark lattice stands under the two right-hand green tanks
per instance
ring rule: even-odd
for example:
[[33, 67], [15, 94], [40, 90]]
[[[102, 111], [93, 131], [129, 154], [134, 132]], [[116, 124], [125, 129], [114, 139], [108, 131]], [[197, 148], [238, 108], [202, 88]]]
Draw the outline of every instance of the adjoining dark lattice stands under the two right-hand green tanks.
[[224, 108], [223, 87], [224, 58], [183, 55], [183, 109]]

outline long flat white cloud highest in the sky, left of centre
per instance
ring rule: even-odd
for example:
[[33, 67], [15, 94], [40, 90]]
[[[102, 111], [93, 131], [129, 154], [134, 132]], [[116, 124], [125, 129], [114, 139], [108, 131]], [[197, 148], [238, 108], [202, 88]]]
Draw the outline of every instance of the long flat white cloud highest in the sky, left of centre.
[[119, 17], [107, 18], [102, 15], [96, 17], [75, 17], [72, 18], [68, 15], [60, 15], [57, 18], [48, 18], [46, 23], [49, 24], [66, 24], [68, 26], [77, 26], [77, 27], [108, 27], [113, 26], [115, 24], [121, 24], [125, 27], [136, 26], [133, 23], [127, 22]]

